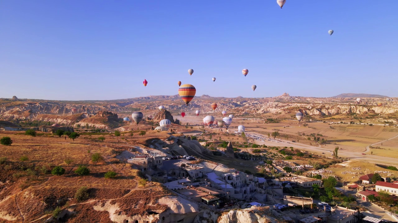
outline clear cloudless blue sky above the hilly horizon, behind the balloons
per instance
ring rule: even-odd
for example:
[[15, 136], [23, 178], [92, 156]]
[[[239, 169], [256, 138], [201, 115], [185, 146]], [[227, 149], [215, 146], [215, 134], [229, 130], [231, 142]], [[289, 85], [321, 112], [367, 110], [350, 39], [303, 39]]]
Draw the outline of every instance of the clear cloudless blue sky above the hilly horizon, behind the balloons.
[[197, 96], [397, 97], [397, 8], [398, 0], [287, 0], [283, 9], [276, 0], [2, 0], [0, 98], [173, 95], [178, 81]]

